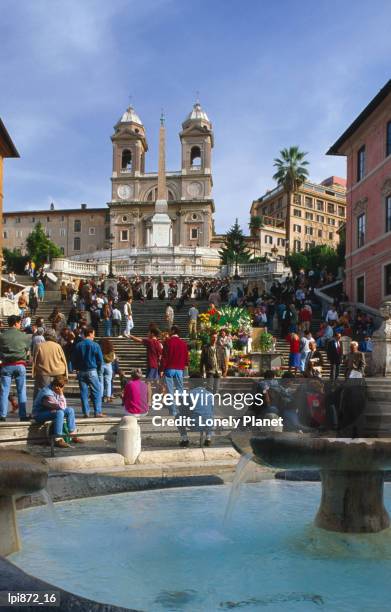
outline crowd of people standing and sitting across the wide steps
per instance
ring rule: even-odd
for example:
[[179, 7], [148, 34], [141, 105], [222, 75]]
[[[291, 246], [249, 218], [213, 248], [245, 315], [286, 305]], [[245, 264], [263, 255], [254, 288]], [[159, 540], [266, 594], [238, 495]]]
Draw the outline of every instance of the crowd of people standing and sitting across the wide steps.
[[[360, 311], [352, 316], [347, 296], [338, 295], [326, 311], [321, 311], [315, 289], [329, 280], [324, 271], [319, 274], [317, 271], [300, 271], [284, 281], [274, 281], [268, 292], [255, 283], [236, 284], [228, 278], [188, 278], [181, 282], [179, 295], [176, 280], [168, 283], [160, 280], [157, 285], [155, 283], [155, 289], [158, 297], [166, 300], [166, 329], [161, 331], [150, 322], [145, 338], [132, 333], [132, 304], [133, 300], [144, 302], [152, 299], [152, 279], [121, 277], [109, 284], [103, 278], [62, 282], [60, 298], [68, 304], [68, 314], [64, 314], [63, 308], [55, 307], [45, 321], [37, 316], [39, 303], [45, 296], [45, 283], [42, 278], [37, 278], [35, 271], [32, 277], [34, 280], [29, 291], [19, 296], [19, 315], [9, 317], [8, 328], [3, 328], [0, 334], [0, 421], [6, 420], [9, 404], [12, 412], [19, 410], [20, 420], [30, 418], [26, 410], [26, 364], [31, 360], [34, 379], [32, 416], [40, 422], [51, 415], [58, 446], [67, 445], [60, 434], [64, 427], [71, 441], [81, 442], [77, 436], [74, 410], [67, 407], [64, 395], [71, 372], [77, 376], [84, 418], [91, 413], [95, 418], [104, 416], [102, 406], [114, 400], [115, 376], [121, 382], [125, 411], [130, 414], [147, 411], [149, 384], [160, 385], [159, 388], [170, 394], [176, 390], [183, 392], [189, 345], [180, 337], [175, 314], [187, 309], [189, 337], [194, 340], [201, 314], [197, 300], [208, 300], [209, 311], [218, 312], [222, 304], [245, 308], [250, 312], [255, 327], [286, 339], [290, 349], [289, 370], [284, 374], [285, 382], [281, 387], [285, 390], [280, 390], [286, 405], [292, 384], [289, 381], [293, 377], [312, 379], [311, 384], [315, 386], [324, 384], [321, 376], [326, 357], [331, 366], [331, 381], [338, 379], [341, 364], [345, 367], [345, 378], [362, 378], [365, 354], [372, 348], [374, 322]], [[318, 328], [313, 325], [315, 313], [319, 315], [317, 320], [321, 318]], [[103, 337], [97, 342], [100, 325], [103, 326]], [[145, 380], [139, 369], [126, 375], [121, 368], [111, 339], [121, 336], [145, 346]], [[243, 338], [243, 348], [248, 340]], [[233, 337], [229, 329], [224, 328], [218, 333], [213, 331], [202, 344], [199, 377], [209, 379], [208, 388], [214, 392], [218, 389], [219, 379], [227, 375], [232, 348]], [[16, 384], [17, 400], [11, 393], [12, 380]], [[272, 390], [273, 386], [276, 387], [276, 382], [266, 391]], [[285, 407], [284, 410], [287, 422], [298, 427], [295, 419], [299, 411], [295, 411], [294, 417], [289, 413], [291, 408]], [[175, 405], [169, 411], [175, 415]], [[210, 443], [210, 437], [206, 443]], [[186, 432], [182, 432], [181, 445], [187, 444]]]

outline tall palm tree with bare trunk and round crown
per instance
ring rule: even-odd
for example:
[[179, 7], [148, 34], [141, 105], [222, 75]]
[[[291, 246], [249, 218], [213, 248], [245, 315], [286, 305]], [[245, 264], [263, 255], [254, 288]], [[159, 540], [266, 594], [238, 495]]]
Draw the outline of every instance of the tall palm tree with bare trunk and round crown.
[[278, 185], [284, 188], [287, 195], [287, 209], [286, 209], [286, 241], [285, 241], [285, 255], [289, 256], [290, 247], [290, 224], [291, 224], [291, 200], [292, 194], [299, 189], [308, 179], [308, 161], [305, 160], [307, 153], [299, 150], [299, 147], [289, 147], [289, 149], [282, 149], [280, 151], [281, 158], [274, 160], [274, 167], [277, 168], [277, 172], [273, 175], [273, 179], [277, 181]]

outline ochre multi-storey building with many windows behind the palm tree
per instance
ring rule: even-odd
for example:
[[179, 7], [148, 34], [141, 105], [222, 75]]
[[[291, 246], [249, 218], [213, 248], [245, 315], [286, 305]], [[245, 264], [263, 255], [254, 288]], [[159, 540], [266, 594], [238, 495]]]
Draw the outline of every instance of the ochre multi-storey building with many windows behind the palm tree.
[[[251, 216], [262, 219], [259, 232], [262, 255], [284, 257], [286, 244], [290, 252], [339, 243], [338, 229], [346, 220], [346, 181], [330, 177], [321, 184], [305, 182], [291, 196], [290, 223], [286, 227], [288, 198], [282, 187], [267, 191], [251, 206]], [[274, 220], [274, 223], [272, 222]], [[277, 225], [280, 221], [281, 225]]]

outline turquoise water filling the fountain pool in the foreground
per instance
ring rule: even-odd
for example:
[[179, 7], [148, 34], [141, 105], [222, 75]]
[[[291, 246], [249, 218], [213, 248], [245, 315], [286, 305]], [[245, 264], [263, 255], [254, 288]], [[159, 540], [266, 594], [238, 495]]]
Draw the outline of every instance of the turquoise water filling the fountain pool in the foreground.
[[[386, 485], [391, 509], [391, 487]], [[19, 512], [31, 574], [101, 602], [161, 612], [389, 612], [391, 536], [311, 526], [318, 483], [165, 489]]]

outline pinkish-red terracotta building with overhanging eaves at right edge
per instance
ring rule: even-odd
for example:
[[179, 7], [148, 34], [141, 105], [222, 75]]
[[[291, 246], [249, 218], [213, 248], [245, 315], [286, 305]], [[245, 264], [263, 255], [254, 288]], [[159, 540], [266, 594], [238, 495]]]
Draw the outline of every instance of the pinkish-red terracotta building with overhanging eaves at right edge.
[[378, 308], [391, 300], [391, 80], [327, 154], [347, 157], [345, 290]]

